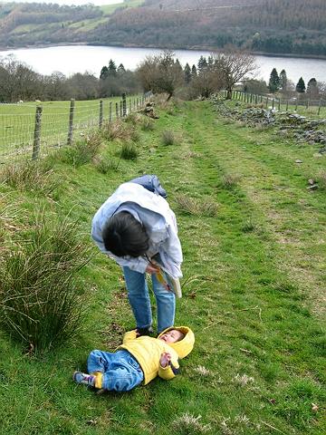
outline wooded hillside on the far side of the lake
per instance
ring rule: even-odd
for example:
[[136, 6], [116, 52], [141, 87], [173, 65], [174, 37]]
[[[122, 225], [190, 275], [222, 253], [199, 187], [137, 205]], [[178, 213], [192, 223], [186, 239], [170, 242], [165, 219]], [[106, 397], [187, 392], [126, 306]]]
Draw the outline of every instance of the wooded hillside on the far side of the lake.
[[[140, 5], [139, 5], [140, 4]], [[136, 7], [126, 7], [126, 6]], [[118, 5], [117, 5], [118, 6]], [[324, 0], [132, 0], [100, 7], [0, 6], [0, 44], [96, 43], [326, 56]]]

